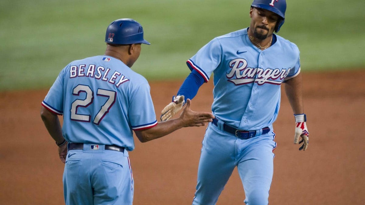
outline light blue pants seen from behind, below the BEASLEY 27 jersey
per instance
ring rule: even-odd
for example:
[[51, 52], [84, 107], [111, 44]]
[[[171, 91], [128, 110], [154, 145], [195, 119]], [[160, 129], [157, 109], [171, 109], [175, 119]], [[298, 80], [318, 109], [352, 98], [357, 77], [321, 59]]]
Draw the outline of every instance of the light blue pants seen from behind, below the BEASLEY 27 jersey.
[[69, 150], [63, 175], [66, 205], [131, 205], [134, 182], [128, 151]]

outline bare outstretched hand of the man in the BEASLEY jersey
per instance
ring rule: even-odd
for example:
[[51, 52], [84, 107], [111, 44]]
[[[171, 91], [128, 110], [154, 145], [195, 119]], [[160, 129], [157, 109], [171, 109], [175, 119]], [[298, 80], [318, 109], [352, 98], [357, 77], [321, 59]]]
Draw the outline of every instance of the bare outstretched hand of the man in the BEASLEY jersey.
[[213, 121], [214, 115], [209, 112], [194, 112], [190, 109], [191, 100], [187, 99], [185, 108], [180, 114], [180, 119], [184, 122], [184, 127], [200, 127], [204, 126], [205, 123]]

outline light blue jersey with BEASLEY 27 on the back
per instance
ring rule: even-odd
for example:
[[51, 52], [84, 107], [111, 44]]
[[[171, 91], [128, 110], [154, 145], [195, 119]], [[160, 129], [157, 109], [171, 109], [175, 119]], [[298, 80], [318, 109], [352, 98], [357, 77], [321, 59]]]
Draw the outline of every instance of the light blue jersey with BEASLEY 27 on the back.
[[64, 115], [68, 142], [134, 149], [132, 130], [157, 125], [150, 86], [119, 59], [99, 55], [71, 62], [42, 105]]

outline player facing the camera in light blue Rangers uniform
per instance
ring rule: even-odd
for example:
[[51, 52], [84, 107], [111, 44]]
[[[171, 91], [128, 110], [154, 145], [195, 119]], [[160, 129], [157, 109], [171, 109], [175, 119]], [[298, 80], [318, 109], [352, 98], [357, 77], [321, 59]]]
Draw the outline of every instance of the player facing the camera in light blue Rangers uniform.
[[214, 74], [212, 113], [207, 127], [193, 204], [215, 204], [237, 167], [247, 205], [268, 204], [273, 176], [275, 133], [280, 85], [295, 116], [294, 143], [308, 147], [303, 111], [299, 50], [273, 34], [284, 23], [285, 0], [254, 0], [250, 27], [214, 38], [187, 61], [191, 73], [173, 102], [161, 112], [168, 120], [192, 99]]

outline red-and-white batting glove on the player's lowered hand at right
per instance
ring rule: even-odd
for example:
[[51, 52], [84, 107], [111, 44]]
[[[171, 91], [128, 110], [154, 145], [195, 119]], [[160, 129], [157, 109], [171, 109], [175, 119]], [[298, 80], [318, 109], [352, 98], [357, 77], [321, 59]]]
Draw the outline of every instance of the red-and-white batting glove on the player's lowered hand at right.
[[299, 150], [306, 151], [309, 144], [309, 132], [306, 125], [307, 117], [305, 114], [294, 115], [295, 117], [295, 136], [294, 144], [298, 144], [299, 138], [301, 138], [299, 144], [303, 143]]

